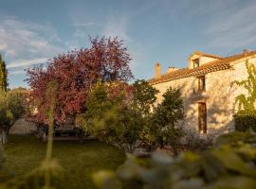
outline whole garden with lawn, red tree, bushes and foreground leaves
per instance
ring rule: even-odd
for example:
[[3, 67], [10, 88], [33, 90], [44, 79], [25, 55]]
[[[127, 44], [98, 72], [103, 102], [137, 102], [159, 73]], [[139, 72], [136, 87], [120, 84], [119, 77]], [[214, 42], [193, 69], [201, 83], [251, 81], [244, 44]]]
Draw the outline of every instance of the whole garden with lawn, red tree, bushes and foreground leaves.
[[[142, 79], [132, 82], [131, 57], [122, 41], [89, 41], [89, 48], [48, 60], [46, 69], [27, 69], [29, 92], [8, 89], [1, 59], [0, 188], [256, 187], [253, 65], [247, 64], [247, 80], [234, 81], [250, 86], [248, 96], [236, 98], [237, 131], [198, 150], [202, 141], [196, 137], [191, 140], [197, 146], [180, 143], [188, 135], [178, 125], [184, 116], [180, 91], [169, 88], [156, 103], [154, 87]], [[9, 135], [20, 117], [44, 129], [46, 142], [39, 132]], [[54, 141], [67, 120], [81, 130], [82, 143]]]

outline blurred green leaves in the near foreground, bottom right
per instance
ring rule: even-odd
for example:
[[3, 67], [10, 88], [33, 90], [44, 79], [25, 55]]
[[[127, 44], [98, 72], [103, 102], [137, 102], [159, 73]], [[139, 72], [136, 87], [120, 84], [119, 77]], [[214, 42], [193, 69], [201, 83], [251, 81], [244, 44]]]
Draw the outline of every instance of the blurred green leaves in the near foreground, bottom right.
[[[256, 135], [233, 132], [217, 140], [214, 148], [204, 153], [185, 152], [171, 158], [155, 153], [148, 161], [130, 158], [119, 166], [116, 174], [96, 173], [101, 188], [120, 188], [124, 181], [141, 181], [147, 189], [256, 187]], [[101, 174], [102, 177], [98, 177]], [[114, 181], [113, 181], [114, 180]], [[116, 185], [114, 185], [116, 184]]]

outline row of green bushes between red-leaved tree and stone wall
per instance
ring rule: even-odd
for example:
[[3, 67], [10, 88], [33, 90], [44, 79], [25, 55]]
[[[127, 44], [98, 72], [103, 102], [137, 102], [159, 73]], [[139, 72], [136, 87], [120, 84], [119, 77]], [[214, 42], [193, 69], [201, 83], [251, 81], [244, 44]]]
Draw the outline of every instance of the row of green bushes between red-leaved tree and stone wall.
[[131, 87], [98, 82], [88, 96], [86, 112], [77, 117], [78, 125], [99, 140], [129, 152], [138, 141], [154, 147], [170, 145], [175, 150], [181, 130], [174, 124], [183, 117], [179, 91], [169, 89], [155, 107], [157, 90], [144, 80]]

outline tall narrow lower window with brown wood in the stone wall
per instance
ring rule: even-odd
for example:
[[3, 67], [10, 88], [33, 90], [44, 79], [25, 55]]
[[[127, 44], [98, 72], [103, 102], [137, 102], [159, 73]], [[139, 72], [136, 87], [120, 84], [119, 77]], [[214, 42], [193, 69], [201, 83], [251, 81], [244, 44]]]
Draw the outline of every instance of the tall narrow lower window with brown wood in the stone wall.
[[207, 107], [205, 102], [198, 103], [198, 130], [207, 133]]

